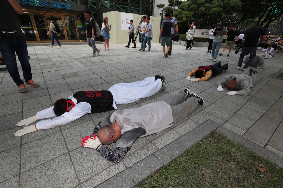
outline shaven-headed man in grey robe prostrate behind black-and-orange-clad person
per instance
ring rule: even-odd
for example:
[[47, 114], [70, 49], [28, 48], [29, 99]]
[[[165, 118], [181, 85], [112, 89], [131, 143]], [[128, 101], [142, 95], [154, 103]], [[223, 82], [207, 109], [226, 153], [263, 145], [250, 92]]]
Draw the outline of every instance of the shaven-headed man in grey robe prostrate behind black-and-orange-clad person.
[[227, 87], [229, 90], [237, 91], [228, 91], [227, 95], [249, 95], [251, 87], [254, 87], [253, 84], [258, 82], [259, 75], [257, 71], [253, 69], [245, 70], [242, 74], [230, 74], [225, 76], [223, 79], [217, 82], [218, 88], [217, 91], [223, 91], [222, 87]]

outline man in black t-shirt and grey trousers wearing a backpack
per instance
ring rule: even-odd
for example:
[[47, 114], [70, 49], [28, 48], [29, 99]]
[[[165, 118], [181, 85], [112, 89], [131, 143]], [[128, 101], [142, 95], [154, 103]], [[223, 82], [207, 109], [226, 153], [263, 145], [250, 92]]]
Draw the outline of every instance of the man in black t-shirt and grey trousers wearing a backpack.
[[97, 37], [98, 30], [95, 30], [95, 21], [90, 17], [90, 10], [85, 10], [84, 15], [88, 19], [85, 23], [85, 37], [87, 39], [88, 45], [92, 47], [92, 54], [90, 55], [90, 57], [95, 57], [96, 53], [97, 55], [99, 55], [100, 52], [100, 49], [97, 49], [97, 47], [95, 46], [95, 38]]

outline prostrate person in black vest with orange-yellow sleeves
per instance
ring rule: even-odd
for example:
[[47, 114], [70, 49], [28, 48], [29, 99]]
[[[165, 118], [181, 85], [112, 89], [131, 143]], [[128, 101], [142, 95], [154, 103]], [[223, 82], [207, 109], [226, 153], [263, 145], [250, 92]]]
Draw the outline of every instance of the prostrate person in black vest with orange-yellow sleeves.
[[[209, 79], [209, 77], [216, 77], [216, 75], [220, 74], [223, 70], [228, 69], [228, 63], [225, 63], [221, 66], [221, 61], [215, 63], [214, 65], [208, 66], [200, 66], [195, 68], [192, 72], [188, 74], [187, 80], [190, 81], [205, 81]], [[195, 75], [196, 78], [191, 78], [191, 76]]]

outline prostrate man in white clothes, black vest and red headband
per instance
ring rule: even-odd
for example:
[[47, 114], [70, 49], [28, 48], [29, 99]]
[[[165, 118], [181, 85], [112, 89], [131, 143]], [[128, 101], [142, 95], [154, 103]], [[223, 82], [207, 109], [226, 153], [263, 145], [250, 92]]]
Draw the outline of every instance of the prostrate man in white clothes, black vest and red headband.
[[87, 113], [114, 110], [117, 109], [116, 104], [128, 104], [141, 98], [150, 97], [165, 88], [164, 76], [156, 75], [133, 83], [115, 84], [107, 91], [78, 91], [68, 99], [57, 100], [53, 107], [37, 112], [36, 116], [21, 120], [17, 125], [29, 125], [40, 119], [57, 116], [56, 118], [39, 121], [36, 125], [29, 125], [14, 134], [22, 136], [36, 130], [64, 125]]

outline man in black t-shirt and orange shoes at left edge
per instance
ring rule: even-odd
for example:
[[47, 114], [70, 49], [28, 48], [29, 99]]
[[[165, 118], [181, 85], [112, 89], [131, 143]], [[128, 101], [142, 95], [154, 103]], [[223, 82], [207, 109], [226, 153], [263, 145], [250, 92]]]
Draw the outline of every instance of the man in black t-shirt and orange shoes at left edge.
[[22, 93], [27, 91], [27, 89], [22, 79], [20, 79], [15, 52], [20, 60], [26, 85], [38, 87], [39, 84], [34, 83], [32, 80], [26, 39], [14, 11], [18, 14], [23, 13], [22, 7], [16, 1], [0, 1], [0, 52], [10, 76]]

